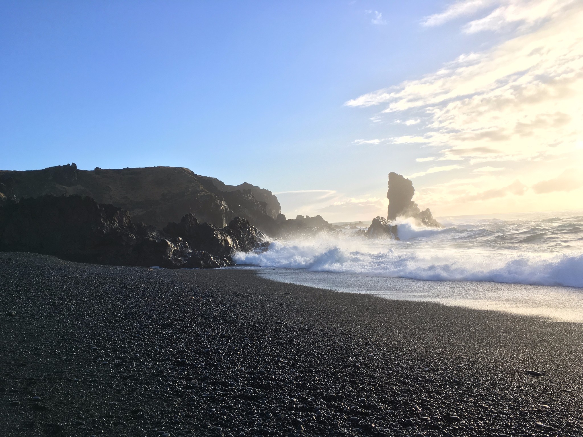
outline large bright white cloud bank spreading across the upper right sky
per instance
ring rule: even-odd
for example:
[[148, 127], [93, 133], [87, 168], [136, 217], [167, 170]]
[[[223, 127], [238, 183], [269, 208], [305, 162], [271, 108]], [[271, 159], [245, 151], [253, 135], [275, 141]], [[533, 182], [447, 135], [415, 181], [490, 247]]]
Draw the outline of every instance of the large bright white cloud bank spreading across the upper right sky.
[[[524, 22], [546, 22], [488, 51], [462, 55], [421, 79], [345, 104], [386, 104], [380, 113], [385, 117], [423, 114], [427, 122], [416, 126], [415, 134], [391, 142], [436, 147], [443, 160], [540, 160], [573, 150], [583, 138], [583, 2], [491, 3], [502, 4], [522, 14]], [[461, 9], [451, 9], [448, 17], [455, 10], [459, 16], [463, 8], [477, 11], [483, 2], [454, 5]]]

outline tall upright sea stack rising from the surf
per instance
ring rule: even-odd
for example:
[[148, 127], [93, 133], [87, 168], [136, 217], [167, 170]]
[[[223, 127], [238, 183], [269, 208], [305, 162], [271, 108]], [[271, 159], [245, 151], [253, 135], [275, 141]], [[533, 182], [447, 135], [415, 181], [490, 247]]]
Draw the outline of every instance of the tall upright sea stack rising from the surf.
[[424, 226], [440, 228], [441, 224], [433, 218], [429, 208], [422, 211], [417, 203], [411, 200], [414, 194], [413, 182], [400, 174], [390, 172], [387, 192], [387, 199], [389, 199], [387, 219], [394, 221], [397, 217], [413, 217]]

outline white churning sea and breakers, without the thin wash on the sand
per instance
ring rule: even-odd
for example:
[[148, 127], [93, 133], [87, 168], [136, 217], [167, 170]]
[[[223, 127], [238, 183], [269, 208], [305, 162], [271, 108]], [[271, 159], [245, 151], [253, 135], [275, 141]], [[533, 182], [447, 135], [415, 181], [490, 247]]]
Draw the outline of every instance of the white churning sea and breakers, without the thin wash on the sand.
[[[548, 214], [547, 214], [548, 215]], [[401, 241], [353, 232], [275, 241], [238, 264], [419, 280], [583, 287], [583, 217], [540, 214], [442, 219], [443, 229], [398, 224]]]

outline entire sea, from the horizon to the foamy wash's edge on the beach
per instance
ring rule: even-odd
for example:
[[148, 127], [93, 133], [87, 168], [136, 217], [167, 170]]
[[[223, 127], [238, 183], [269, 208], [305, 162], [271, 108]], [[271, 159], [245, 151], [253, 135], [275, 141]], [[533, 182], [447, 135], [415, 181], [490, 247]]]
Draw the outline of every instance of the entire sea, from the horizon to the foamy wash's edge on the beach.
[[583, 212], [440, 222], [398, 220], [400, 241], [346, 229], [234, 258], [278, 281], [583, 322]]

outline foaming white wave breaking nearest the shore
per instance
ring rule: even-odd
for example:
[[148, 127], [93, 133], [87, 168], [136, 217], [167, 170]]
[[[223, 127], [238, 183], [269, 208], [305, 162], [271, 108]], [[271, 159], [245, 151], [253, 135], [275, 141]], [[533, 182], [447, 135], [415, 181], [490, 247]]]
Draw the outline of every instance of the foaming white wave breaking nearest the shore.
[[[497, 251], [403, 250], [403, 244], [345, 239], [273, 242], [264, 253], [237, 253], [237, 264], [433, 281], [494, 281], [583, 287], [583, 252], [545, 255]], [[385, 243], [386, 245], [386, 243]], [[400, 247], [401, 246], [401, 247]]]

